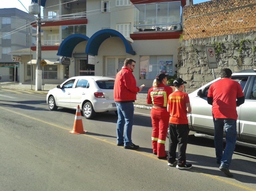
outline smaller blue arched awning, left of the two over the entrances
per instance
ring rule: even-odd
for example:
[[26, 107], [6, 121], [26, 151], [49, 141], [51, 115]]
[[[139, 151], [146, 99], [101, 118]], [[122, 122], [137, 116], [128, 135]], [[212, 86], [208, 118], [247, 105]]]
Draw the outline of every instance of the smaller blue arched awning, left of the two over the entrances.
[[70, 35], [62, 41], [58, 49], [58, 56], [72, 57], [72, 52], [80, 42], [88, 41], [89, 37], [81, 34]]

